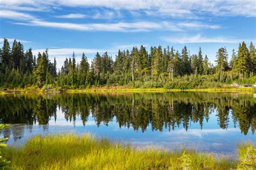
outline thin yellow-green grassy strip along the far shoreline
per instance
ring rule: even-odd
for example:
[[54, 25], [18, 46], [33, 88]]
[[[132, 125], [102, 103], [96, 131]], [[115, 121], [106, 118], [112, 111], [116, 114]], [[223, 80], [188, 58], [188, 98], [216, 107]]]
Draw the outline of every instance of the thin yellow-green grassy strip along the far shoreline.
[[230, 88], [230, 89], [164, 89], [164, 88], [152, 88], [152, 89], [144, 89], [144, 88], [129, 88], [129, 87], [98, 87], [92, 89], [70, 89], [70, 90], [6, 90], [0, 91], [0, 94], [6, 93], [56, 93], [56, 92], [68, 92], [68, 93], [86, 93], [86, 92], [150, 92], [150, 93], [163, 93], [163, 92], [234, 92], [234, 93], [256, 93], [255, 87], [240, 87], [240, 88]]

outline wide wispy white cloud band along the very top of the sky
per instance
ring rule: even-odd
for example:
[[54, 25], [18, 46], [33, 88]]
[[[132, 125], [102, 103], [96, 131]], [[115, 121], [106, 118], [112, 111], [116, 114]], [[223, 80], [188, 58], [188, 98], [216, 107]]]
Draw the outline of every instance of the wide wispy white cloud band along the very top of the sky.
[[[256, 5], [253, 0], [245, 1], [205, 1], [205, 0], [173, 0], [173, 1], [152, 1], [152, 0], [84, 0], [84, 1], [65, 1], [65, 0], [2, 0], [0, 6], [14, 9], [13, 7], [37, 7], [38, 9], [48, 7], [56, 8], [56, 6], [71, 6], [71, 7], [104, 7], [113, 10], [144, 10], [149, 15], [165, 15], [172, 17], [187, 17], [196, 16], [201, 14], [209, 14], [212, 16], [256, 16]], [[24, 8], [24, 10], [26, 10]]]

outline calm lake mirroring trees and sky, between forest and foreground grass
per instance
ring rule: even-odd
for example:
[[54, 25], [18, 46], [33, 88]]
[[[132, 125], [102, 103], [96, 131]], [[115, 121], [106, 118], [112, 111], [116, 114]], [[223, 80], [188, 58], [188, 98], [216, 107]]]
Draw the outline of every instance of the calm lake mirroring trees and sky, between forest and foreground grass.
[[9, 145], [37, 134], [92, 133], [136, 147], [180, 146], [235, 154], [237, 144], [255, 141], [253, 94], [29, 93], [0, 95], [0, 132]]

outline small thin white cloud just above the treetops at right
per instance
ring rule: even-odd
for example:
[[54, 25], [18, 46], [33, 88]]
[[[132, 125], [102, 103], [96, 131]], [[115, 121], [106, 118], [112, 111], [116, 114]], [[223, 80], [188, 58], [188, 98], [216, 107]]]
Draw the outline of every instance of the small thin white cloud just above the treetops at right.
[[[207, 38], [202, 37], [200, 34], [196, 36], [183, 36], [183, 37], [161, 37], [161, 39], [170, 43], [241, 43], [244, 40], [235, 39], [235, 38], [227, 38], [227, 37], [214, 37]], [[246, 40], [249, 41], [249, 40]]]

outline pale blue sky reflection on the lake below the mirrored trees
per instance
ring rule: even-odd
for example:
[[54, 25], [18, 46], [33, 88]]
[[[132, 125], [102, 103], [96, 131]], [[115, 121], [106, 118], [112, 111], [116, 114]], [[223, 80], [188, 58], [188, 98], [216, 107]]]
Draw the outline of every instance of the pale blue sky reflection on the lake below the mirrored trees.
[[[251, 140], [255, 143], [255, 136], [251, 131], [247, 135], [241, 133], [239, 127], [234, 128], [232, 119], [230, 119], [228, 128], [223, 130], [219, 127], [216, 112], [210, 115], [208, 123], [204, 119], [203, 129], [200, 129], [198, 123], [190, 123], [187, 131], [176, 127], [175, 130], [163, 128], [163, 132], [152, 131], [152, 127], [147, 127], [146, 131], [134, 131], [133, 127], [119, 128], [119, 124], [114, 118], [108, 126], [96, 125], [92, 115], [89, 115], [88, 121], [83, 126], [82, 120], [77, 116], [76, 122], [66, 121], [64, 114], [57, 111], [57, 120], [54, 117], [49, 121], [49, 125], [12, 125], [1, 133], [10, 135], [9, 144], [23, 144], [26, 139], [37, 134], [76, 132], [79, 134], [92, 133], [97, 137], [106, 137], [114, 141], [125, 141], [134, 144], [137, 147], [164, 147], [175, 149], [177, 146], [186, 146], [196, 148], [200, 151], [217, 152], [225, 154], [234, 154], [238, 142]], [[231, 114], [230, 114], [231, 118]]]

